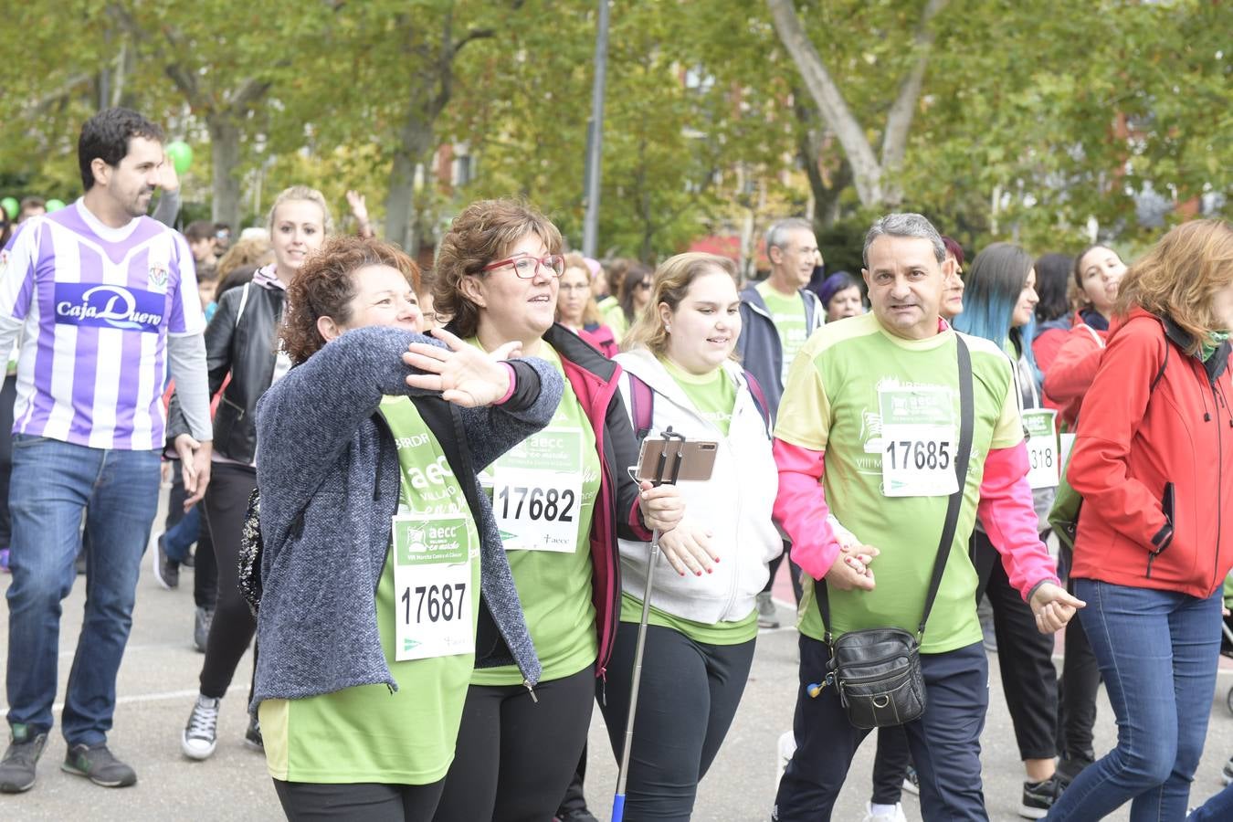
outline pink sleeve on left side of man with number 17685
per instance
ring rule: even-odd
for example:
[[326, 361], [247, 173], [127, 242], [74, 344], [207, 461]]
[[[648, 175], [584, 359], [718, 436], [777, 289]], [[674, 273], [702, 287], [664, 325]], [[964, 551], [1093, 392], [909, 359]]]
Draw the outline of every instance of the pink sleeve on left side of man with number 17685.
[[825, 577], [840, 553], [835, 531], [826, 521], [830, 509], [821, 484], [822, 454], [774, 441], [779, 493], [773, 514], [792, 539], [792, 561], [814, 579]]

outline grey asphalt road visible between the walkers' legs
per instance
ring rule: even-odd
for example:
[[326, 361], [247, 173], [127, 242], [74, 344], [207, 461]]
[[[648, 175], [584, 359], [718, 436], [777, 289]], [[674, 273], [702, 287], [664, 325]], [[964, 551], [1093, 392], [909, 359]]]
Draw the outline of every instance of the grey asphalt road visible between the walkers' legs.
[[[324, 569], [323, 569], [324, 571]], [[60, 771], [64, 741], [53, 731], [39, 762], [38, 784], [28, 792], [0, 795], [0, 820], [102, 820], [144, 822], [166, 820], [281, 820], [264, 758], [243, 744], [244, 702], [250, 661], [236, 674], [236, 685], [223, 702], [219, 743], [207, 762], [180, 753], [180, 731], [197, 690], [202, 656], [192, 649], [192, 572], [184, 571], [180, 588], [163, 590], [147, 566], [138, 584], [133, 632], [120, 672], [118, 705], [110, 736], [112, 751], [138, 773], [133, 787], [104, 789]], [[7, 589], [9, 577], [0, 577]], [[777, 587], [783, 592], [784, 587]], [[790, 598], [790, 594], [788, 594]], [[76, 647], [84, 578], [78, 578], [64, 603], [60, 670], [67, 674]], [[790, 609], [780, 617], [790, 624]], [[7, 664], [7, 609], [0, 606], [0, 665]], [[990, 710], [981, 738], [984, 790], [993, 820], [1017, 820], [1022, 781], [1014, 731], [1001, 698], [997, 665], [990, 661]], [[797, 635], [790, 627], [764, 631], [743, 701], [724, 748], [703, 780], [694, 820], [753, 822], [767, 820], [774, 796], [776, 743], [790, 727], [795, 693]], [[1233, 715], [1224, 700], [1233, 672], [1222, 669], [1212, 702], [1207, 749], [1195, 779], [1192, 804], [1219, 790], [1221, 767], [1233, 754]], [[64, 683], [60, 683], [63, 695]], [[0, 700], [2, 701], [2, 700]], [[57, 712], [59, 704], [57, 704]], [[1101, 694], [1097, 749], [1115, 738], [1112, 711]], [[868, 799], [874, 744], [867, 741], [852, 763], [848, 784], [834, 818], [859, 822]], [[592, 811], [608, 820], [616, 767], [599, 711], [591, 727], [587, 794]], [[909, 820], [920, 820], [916, 799], [905, 794]], [[1124, 811], [1110, 818], [1126, 820]]]

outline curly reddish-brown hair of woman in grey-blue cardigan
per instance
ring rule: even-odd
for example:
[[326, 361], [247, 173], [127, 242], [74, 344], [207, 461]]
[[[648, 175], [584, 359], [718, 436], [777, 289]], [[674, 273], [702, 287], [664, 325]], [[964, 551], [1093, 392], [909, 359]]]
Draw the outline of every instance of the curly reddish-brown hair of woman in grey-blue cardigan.
[[327, 238], [309, 254], [291, 285], [282, 320], [282, 346], [300, 365], [326, 345], [317, 320], [329, 317], [339, 325], [351, 319], [355, 279], [359, 269], [387, 265], [398, 270], [412, 288], [419, 288], [419, 266], [402, 249], [375, 238], [339, 235]]

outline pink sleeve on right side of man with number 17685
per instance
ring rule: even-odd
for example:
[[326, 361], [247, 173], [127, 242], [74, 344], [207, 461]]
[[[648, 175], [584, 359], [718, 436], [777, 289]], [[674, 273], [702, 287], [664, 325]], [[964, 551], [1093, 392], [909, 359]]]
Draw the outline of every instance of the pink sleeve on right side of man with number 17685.
[[1057, 566], [1036, 532], [1032, 489], [1027, 484], [1027, 446], [1022, 442], [994, 449], [985, 457], [977, 515], [989, 541], [1002, 555], [1010, 584], [1025, 600], [1042, 582], [1060, 584]]

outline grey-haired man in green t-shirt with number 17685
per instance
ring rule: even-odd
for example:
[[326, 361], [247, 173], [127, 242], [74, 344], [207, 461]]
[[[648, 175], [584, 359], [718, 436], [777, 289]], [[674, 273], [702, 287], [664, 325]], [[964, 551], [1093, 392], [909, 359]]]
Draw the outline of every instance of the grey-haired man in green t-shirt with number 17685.
[[[963, 336], [972, 360], [972, 456], [954, 471], [961, 419], [957, 333], [941, 320], [946, 248], [920, 214], [889, 214], [866, 238], [873, 312], [826, 325], [793, 364], [779, 405], [774, 515], [804, 569], [797, 752], [779, 783], [777, 822], [829, 818], [868, 731], [854, 727], [826, 683], [830, 648], [847, 631], [916, 632], [952, 492], [962, 504], [921, 641], [925, 714], [904, 725], [925, 818], [986, 820], [980, 731], [988, 664], [977, 621], [968, 539], [979, 515], [1011, 584], [1042, 632], [1083, 603], [1058, 584], [1036, 531], [1027, 449], [1011, 365], [993, 343]], [[825, 455], [825, 466], [824, 466]], [[854, 535], [841, 543], [830, 514]], [[877, 571], [877, 577], [874, 576]], [[824, 582], [825, 580], [825, 582]], [[815, 588], [826, 585], [830, 626]]]

